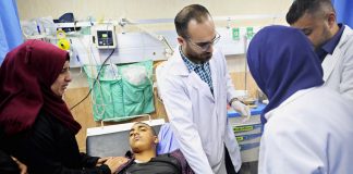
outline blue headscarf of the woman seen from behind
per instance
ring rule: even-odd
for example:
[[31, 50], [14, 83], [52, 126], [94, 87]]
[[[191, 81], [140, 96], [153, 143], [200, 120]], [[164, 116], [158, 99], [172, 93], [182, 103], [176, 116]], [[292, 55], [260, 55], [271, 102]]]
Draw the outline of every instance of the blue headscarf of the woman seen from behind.
[[259, 30], [247, 51], [249, 71], [268, 97], [264, 115], [301, 89], [324, 84], [322, 67], [307, 37], [299, 29], [268, 26]]

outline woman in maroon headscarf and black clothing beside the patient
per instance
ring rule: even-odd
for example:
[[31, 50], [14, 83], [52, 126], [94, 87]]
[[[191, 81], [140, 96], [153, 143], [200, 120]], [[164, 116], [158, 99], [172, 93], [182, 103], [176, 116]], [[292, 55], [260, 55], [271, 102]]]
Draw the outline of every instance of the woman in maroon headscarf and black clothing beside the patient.
[[69, 53], [28, 40], [9, 52], [0, 67], [1, 149], [31, 174], [110, 174], [119, 159], [80, 153], [81, 125], [62, 100], [71, 75]]

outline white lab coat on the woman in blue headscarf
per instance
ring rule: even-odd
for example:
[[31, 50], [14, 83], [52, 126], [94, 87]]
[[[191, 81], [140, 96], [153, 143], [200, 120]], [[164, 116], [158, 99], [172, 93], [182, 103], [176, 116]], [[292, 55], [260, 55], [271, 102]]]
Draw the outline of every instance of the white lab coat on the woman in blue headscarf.
[[353, 102], [332, 89], [300, 90], [265, 114], [259, 174], [352, 174]]

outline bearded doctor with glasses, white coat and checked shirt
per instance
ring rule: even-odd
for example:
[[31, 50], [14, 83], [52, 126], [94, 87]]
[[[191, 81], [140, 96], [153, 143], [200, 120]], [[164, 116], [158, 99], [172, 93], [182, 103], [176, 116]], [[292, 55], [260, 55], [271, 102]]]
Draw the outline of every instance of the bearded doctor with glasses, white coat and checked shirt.
[[[224, 55], [214, 50], [220, 36], [207, 9], [198, 4], [181, 10], [174, 23], [180, 47], [157, 74], [171, 128], [195, 173], [235, 173], [241, 158], [227, 103], [243, 115], [249, 110], [235, 98]], [[226, 157], [233, 171], [226, 170]]]

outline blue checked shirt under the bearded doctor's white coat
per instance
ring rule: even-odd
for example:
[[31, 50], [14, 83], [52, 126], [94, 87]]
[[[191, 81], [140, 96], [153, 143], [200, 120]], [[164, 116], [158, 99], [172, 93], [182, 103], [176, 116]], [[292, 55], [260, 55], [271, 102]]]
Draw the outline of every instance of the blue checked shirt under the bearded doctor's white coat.
[[212, 78], [210, 73], [209, 62], [196, 64], [186, 58], [181, 48], [179, 48], [180, 54], [188, 70], [188, 72], [195, 72], [206, 84], [208, 84], [210, 91], [214, 94]]

